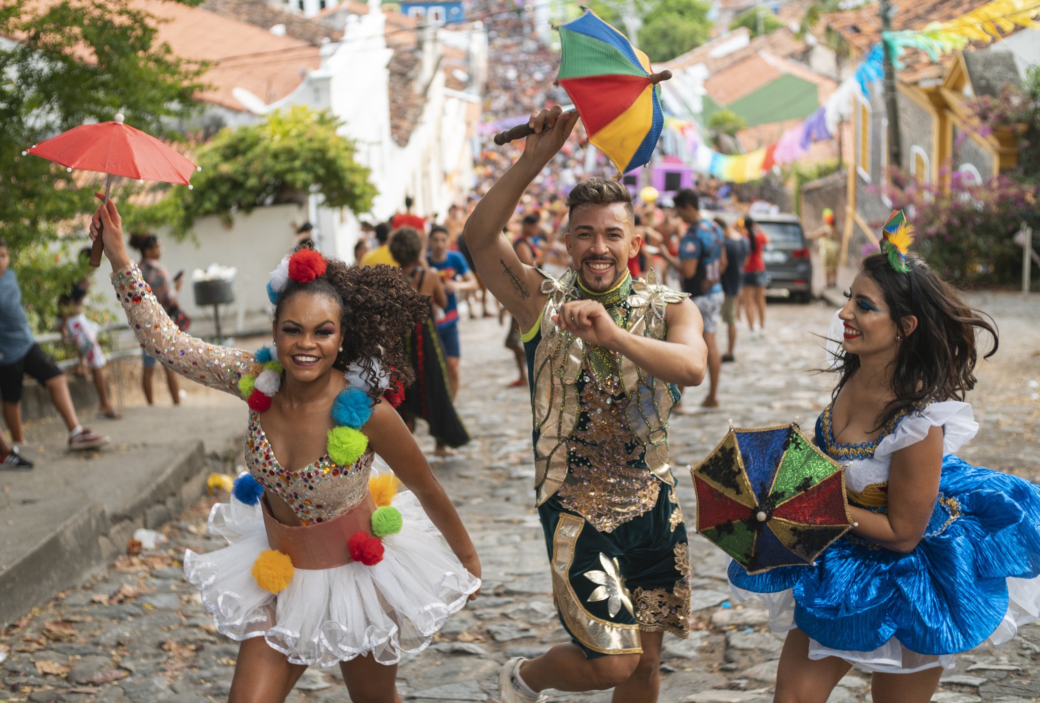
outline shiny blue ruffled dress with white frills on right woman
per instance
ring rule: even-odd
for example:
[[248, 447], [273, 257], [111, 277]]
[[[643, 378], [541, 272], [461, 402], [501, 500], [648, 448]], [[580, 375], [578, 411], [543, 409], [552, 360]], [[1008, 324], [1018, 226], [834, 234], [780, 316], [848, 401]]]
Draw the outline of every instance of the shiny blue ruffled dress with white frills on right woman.
[[917, 547], [903, 554], [851, 532], [812, 566], [749, 575], [735, 562], [730, 587], [760, 597], [774, 631], [809, 635], [809, 657], [841, 657], [864, 671], [954, 667], [954, 654], [1011, 640], [1040, 617], [1040, 486], [971, 466], [954, 454], [979, 425], [966, 402], [935, 402], [894, 418], [881, 437], [838, 444], [831, 408], [816, 443], [846, 466], [851, 504], [884, 511], [899, 449], [943, 428], [939, 498]]

